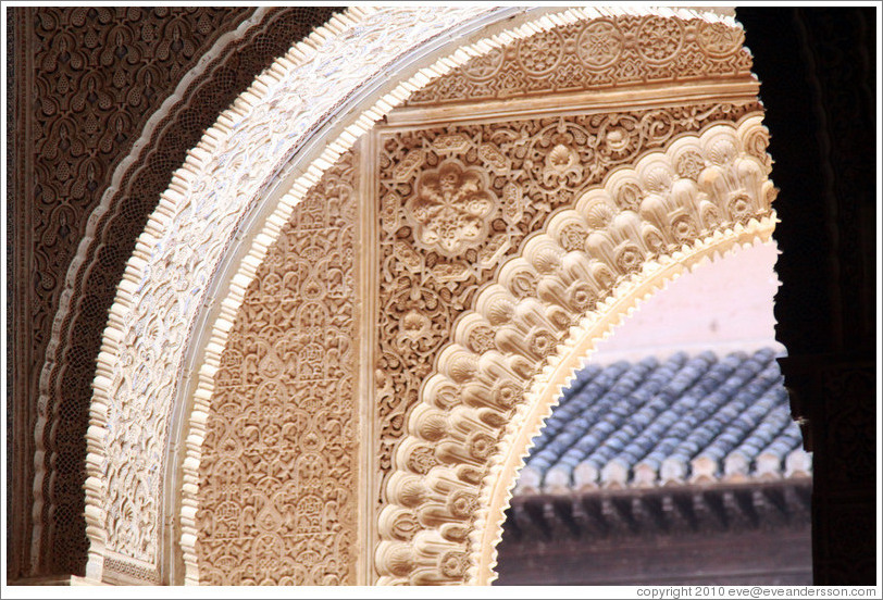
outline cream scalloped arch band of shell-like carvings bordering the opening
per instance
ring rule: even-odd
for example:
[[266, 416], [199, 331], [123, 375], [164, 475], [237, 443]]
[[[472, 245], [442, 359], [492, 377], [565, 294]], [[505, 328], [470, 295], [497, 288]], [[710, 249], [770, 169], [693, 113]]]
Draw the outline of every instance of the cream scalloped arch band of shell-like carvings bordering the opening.
[[[755, 115], [738, 128], [682, 135], [613, 170], [476, 293], [405, 414], [378, 520], [381, 584], [487, 583], [509, 493], [500, 485], [513, 483], [500, 470], [511, 470], [538, 429], [535, 420], [525, 430], [525, 415], [555, 400], [536, 405], [551, 358], [560, 362], [574, 332], [615, 314], [623, 289], [652, 282], [679, 257], [771, 232], [766, 140]], [[632, 208], [623, 190], [636, 195]]]

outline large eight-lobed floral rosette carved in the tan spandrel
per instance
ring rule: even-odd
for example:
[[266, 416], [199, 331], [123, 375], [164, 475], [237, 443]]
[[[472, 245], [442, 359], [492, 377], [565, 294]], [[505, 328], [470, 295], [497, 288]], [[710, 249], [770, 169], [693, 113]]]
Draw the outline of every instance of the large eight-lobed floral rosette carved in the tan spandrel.
[[452, 161], [423, 173], [405, 205], [414, 224], [414, 238], [446, 257], [456, 257], [484, 241], [487, 218], [497, 201], [487, 187], [481, 171]]

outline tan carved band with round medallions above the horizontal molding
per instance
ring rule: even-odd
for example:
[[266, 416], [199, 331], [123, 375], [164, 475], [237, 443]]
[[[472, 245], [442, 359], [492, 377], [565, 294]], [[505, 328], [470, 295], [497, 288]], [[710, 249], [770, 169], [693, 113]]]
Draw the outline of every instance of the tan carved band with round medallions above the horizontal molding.
[[709, 76], [748, 77], [742, 27], [695, 15], [615, 15], [569, 23], [472, 59], [408, 107], [506, 100]]

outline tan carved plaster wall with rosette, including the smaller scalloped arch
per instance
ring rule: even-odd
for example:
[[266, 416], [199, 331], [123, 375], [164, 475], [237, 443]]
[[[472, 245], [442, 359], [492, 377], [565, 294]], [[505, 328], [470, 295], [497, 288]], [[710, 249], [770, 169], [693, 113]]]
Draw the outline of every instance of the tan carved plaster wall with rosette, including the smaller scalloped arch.
[[[598, 322], [615, 322], [619, 317], [611, 314], [633, 305], [634, 300], [624, 298], [634, 293], [627, 291], [630, 286], [637, 285], [625, 285], [623, 278], [638, 279], [633, 273], [646, 263], [670, 260], [670, 254], [682, 245], [686, 248], [718, 227], [723, 232], [734, 226], [742, 218], [735, 216], [736, 204], [750, 217], [769, 216], [766, 195], [770, 189], [758, 187], [766, 175], [756, 183], [735, 184], [732, 197], [726, 200], [719, 197], [718, 201], [726, 207], [716, 207], [706, 199], [701, 209], [688, 208], [688, 197], [696, 193], [698, 184], [689, 187], [687, 180], [698, 182], [707, 165], [724, 165], [729, 159], [723, 155], [735, 148], [739, 148], [737, 152], [750, 152], [763, 170], [768, 168], [763, 132], [757, 127], [746, 126], [745, 132], [751, 133], [743, 132], [747, 137], [739, 141], [735, 137], [726, 140], [726, 134], [719, 130], [716, 143], [721, 148], [731, 145], [726, 151], [710, 152], [708, 148], [700, 150], [699, 145], [691, 147], [683, 142], [689, 132], [700, 132], [720, 122], [738, 123], [751, 113], [759, 113], [750, 88], [742, 88], [743, 96], [735, 101], [693, 100], [676, 107], [643, 110], [635, 108], [642, 101], [664, 104], [658, 100], [659, 88], [652, 91], [632, 88], [629, 96], [611, 97], [606, 107], [602, 105], [606, 99], [599, 95], [593, 101], [574, 95], [606, 86], [629, 90], [637, 83], [671, 84], [692, 77], [705, 78], [705, 84], [718, 77], [731, 77], [743, 84], [751, 80], [750, 60], [739, 46], [739, 29], [719, 23], [725, 35], [716, 38], [718, 43], [713, 45], [702, 34], [710, 27], [707, 22], [670, 18], [668, 27], [673, 27], [677, 36], [685, 32], [684, 37], [675, 36], [676, 43], [662, 45], [652, 58], [646, 46], [649, 38], [638, 38], [635, 32], [664, 29], [661, 21], [666, 20], [655, 16], [593, 20], [513, 42], [431, 83], [411, 96], [403, 109], [389, 115], [388, 126], [372, 133], [380, 153], [374, 202], [380, 211], [380, 284], [373, 363], [376, 383], [373, 407], [380, 433], [377, 482], [372, 490], [377, 493], [375, 505], [382, 509], [377, 527], [383, 541], [375, 555], [375, 567], [383, 584], [493, 579], [490, 549], [501, 525], [500, 507], [505, 508], [507, 492], [505, 485], [490, 491], [488, 482], [513, 477], [518, 461], [513, 462], [512, 457], [526, 451], [530, 436], [520, 438], [523, 447], [514, 450], [512, 457], [500, 460], [513, 443], [505, 434], [514, 435], [512, 432], [518, 430], [511, 423], [520, 418], [517, 409], [522, 403], [533, 404], [532, 426], [538, 427], [536, 415], [543, 414], [545, 407], [539, 408], [542, 402], [526, 398], [533, 386], [545, 389], [535, 377], [542, 373], [546, 357], [554, 355], [568, 339], [569, 328], [581, 318], [588, 318], [586, 315], [593, 311], [597, 310], [594, 318]], [[599, 70], [596, 77], [586, 75], [587, 64], [592, 64], [589, 54], [583, 52], [577, 57], [574, 48], [579, 48], [576, 40], [592, 38], [599, 28], [610, 32], [605, 39], [627, 38], [624, 51], [626, 62], [634, 68], [631, 75], [620, 73], [620, 67], [611, 66], [612, 62], [606, 64], [606, 70]], [[684, 39], [688, 41], [684, 43]], [[730, 40], [730, 46], [723, 49], [721, 40]], [[569, 51], [563, 50], [565, 46]], [[605, 45], [593, 48], [596, 53], [601, 52]], [[527, 53], [538, 62], [525, 64], [520, 60]], [[487, 67], [488, 61], [495, 65], [493, 68]], [[550, 75], [554, 85], [548, 78], [540, 78], [543, 73], [536, 66], [539, 63], [561, 66], [560, 73]], [[575, 64], [580, 68], [563, 66]], [[487, 77], [483, 78], [484, 75]], [[622, 82], [617, 80], [618, 76]], [[533, 82], [534, 89], [557, 96], [531, 100], [531, 85], [526, 83], [506, 89], [513, 79]], [[708, 89], [704, 91], [706, 98], [713, 97]], [[495, 105], [495, 110], [474, 103], [459, 111], [414, 108], [424, 102], [465, 103], [472, 100], [470, 93], [518, 102], [518, 109], [502, 103]], [[568, 105], [576, 114], [555, 114], [551, 107], [556, 104]], [[583, 112], [577, 112], [581, 109]], [[475, 123], [474, 117], [470, 118], [475, 113], [485, 118]], [[531, 114], [534, 118], [518, 118]], [[435, 126], [421, 128], [421, 121]], [[525, 238], [547, 227], [550, 215], [573, 208], [580, 193], [598, 185], [611, 171], [633, 164], [679, 138], [683, 145], [676, 146], [676, 155], [658, 159], [648, 167], [655, 174], [642, 175], [647, 177], [644, 183], [636, 177], [615, 179], [608, 189], [607, 203], [586, 207], [582, 217], [563, 222], [559, 239], [537, 251], [535, 260], [540, 266], [513, 266], [512, 260], [526, 252]], [[711, 154], [716, 158], [711, 159]], [[676, 199], [667, 200], [663, 208], [660, 196], [671, 193], [670, 186], [677, 179]], [[736, 200], [736, 189], [741, 187], [745, 191]], [[648, 196], [654, 200], [645, 207], [643, 202]], [[744, 204], [749, 197], [754, 198], [754, 204]], [[630, 225], [625, 225], [627, 214], [635, 215]], [[641, 223], [638, 214], [649, 221]], [[649, 214], [655, 216], [648, 217]], [[620, 233], [607, 239], [607, 247], [602, 250], [600, 246], [585, 246], [587, 233], [606, 228], [614, 216], [620, 220]], [[626, 234], [630, 227], [632, 230]], [[709, 252], [725, 250], [736, 243], [736, 238], [750, 241], [755, 236], [768, 236], [770, 230], [771, 222], [764, 221], [762, 225], [754, 224], [751, 233], [745, 235], [730, 232], [724, 240], [708, 242], [713, 250], [700, 245], [687, 253], [689, 258], [674, 260], [681, 266], [667, 263], [662, 271], [668, 270], [671, 276]], [[630, 236], [634, 238], [631, 242]], [[599, 235], [593, 237], [596, 245], [601, 243]], [[533, 242], [538, 243], [536, 239]], [[583, 267], [581, 275], [571, 272], [571, 278], [552, 284], [550, 274], [556, 273], [562, 257], [571, 253], [569, 260], [576, 261], [577, 254], [573, 252], [580, 250], [587, 252], [586, 261], [592, 257], [594, 266]], [[604, 253], [608, 254], [606, 266], [600, 259]], [[571, 268], [579, 267], [572, 264]], [[597, 270], [594, 273], [599, 278], [589, 284], [593, 270]], [[493, 309], [483, 309], [489, 312], [482, 317], [471, 315], [470, 309], [478, 311], [475, 307], [482, 301], [481, 290], [499, 283], [495, 278], [502, 274], [511, 277], [505, 284], [510, 287], [506, 300]], [[638, 287], [646, 290], [661, 285], [664, 276], [658, 275], [659, 280], [650, 284], [656, 275], [648, 274]], [[543, 276], [550, 279], [545, 290], [538, 286]], [[531, 305], [526, 299], [536, 299], [537, 289], [557, 307]], [[568, 298], [569, 293], [576, 297]], [[623, 300], [615, 302], [617, 309], [608, 314], [602, 301], [619, 295]], [[452, 352], [451, 340], [455, 330], [460, 330], [458, 327], [464, 328], [458, 346], [462, 355], [453, 359], [447, 352]], [[605, 333], [604, 326], [593, 327], [594, 336]], [[581, 343], [587, 351], [585, 342]], [[496, 352], [521, 355], [497, 362], [492, 358]], [[451, 372], [442, 383], [433, 373], [438, 373], [445, 360], [451, 361], [445, 363]], [[561, 373], [559, 379], [567, 375]], [[545, 393], [546, 402], [554, 400], [554, 395]], [[415, 405], [425, 411], [414, 409]], [[500, 477], [501, 471], [495, 470], [497, 461], [507, 464], [505, 476]], [[482, 513], [488, 503], [499, 510], [490, 520]]]

